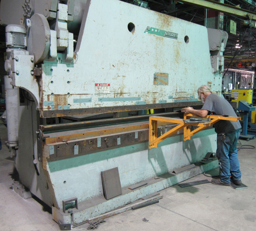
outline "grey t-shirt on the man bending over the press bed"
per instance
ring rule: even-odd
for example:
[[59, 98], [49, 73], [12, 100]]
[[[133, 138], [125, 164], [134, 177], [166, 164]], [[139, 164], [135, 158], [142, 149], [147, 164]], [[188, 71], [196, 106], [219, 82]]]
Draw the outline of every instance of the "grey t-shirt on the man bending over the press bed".
[[[236, 113], [227, 100], [217, 94], [209, 94], [206, 97], [204, 106], [201, 110], [207, 110], [215, 115], [228, 115], [236, 117]], [[228, 133], [241, 128], [239, 121], [220, 120], [214, 125], [217, 134]]]

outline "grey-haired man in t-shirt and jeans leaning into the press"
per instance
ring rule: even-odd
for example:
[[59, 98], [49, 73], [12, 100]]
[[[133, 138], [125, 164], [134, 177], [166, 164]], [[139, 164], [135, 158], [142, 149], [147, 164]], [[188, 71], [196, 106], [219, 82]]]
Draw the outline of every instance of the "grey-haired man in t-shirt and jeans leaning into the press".
[[[212, 93], [209, 86], [198, 88], [198, 97], [204, 103], [201, 110], [192, 107], [182, 108], [182, 112], [192, 113], [198, 117], [207, 117], [208, 113], [236, 117], [230, 103], [224, 98]], [[239, 121], [220, 120], [214, 125], [217, 133], [216, 156], [220, 165], [220, 179], [212, 179], [215, 185], [229, 186], [230, 181], [236, 185], [241, 184], [241, 171], [237, 154], [237, 140], [239, 139], [241, 125]], [[231, 178], [230, 178], [231, 175]]]

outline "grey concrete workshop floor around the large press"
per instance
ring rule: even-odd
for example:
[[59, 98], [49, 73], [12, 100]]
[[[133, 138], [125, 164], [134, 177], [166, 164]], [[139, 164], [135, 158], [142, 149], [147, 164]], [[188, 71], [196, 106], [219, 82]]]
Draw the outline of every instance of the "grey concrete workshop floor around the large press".
[[[0, 124], [4, 143], [6, 127]], [[240, 140], [256, 146], [255, 140]], [[239, 160], [245, 189], [211, 183], [180, 188], [174, 185], [160, 194], [159, 203], [105, 219], [98, 231], [241, 231], [256, 230], [256, 149], [241, 149]], [[47, 209], [33, 198], [22, 199], [12, 190], [14, 160], [3, 145], [0, 151], [0, 231], [58, 231]], [[204, 174], [184, 181], [211, 180]], [[148, 222], [144, 222], [143, 218]], [[87, 230], [88, 224], [73, 230]]]

